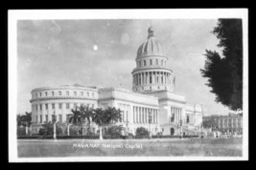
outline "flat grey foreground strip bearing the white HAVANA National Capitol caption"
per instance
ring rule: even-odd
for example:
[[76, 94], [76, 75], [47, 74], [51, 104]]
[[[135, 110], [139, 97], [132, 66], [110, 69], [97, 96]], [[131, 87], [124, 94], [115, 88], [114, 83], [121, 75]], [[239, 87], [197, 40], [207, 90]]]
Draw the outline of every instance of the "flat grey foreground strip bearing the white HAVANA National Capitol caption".
[[18, 139], [19, 158], [242, 157], [242, 138]]

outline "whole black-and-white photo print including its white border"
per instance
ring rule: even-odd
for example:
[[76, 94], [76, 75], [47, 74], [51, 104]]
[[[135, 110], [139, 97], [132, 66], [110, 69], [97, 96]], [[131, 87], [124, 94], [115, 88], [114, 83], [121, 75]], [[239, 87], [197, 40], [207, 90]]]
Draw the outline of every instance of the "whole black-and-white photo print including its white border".
[[9, 161], [247, 160], [247, 12], [9, 11]]

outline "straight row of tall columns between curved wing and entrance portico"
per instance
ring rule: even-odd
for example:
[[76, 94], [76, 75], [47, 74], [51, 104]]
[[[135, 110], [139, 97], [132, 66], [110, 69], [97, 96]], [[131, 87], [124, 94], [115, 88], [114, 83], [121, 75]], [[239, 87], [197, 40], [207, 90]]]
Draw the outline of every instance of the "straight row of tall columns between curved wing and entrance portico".
[[158, 123], [158, 110], [133, 106], [133, 123], [149, 123], [151, 113], [151, 123]]

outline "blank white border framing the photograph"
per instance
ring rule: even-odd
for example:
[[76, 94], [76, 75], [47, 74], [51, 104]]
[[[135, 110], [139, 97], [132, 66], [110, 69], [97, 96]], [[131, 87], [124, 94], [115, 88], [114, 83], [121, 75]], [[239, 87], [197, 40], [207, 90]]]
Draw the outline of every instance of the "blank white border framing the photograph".
[[[28, 158], [17, 157], [17, 20], [27, 19], [243, 19], [244, 98], [243, 98], [243, 157], [74, 157]], [[183, 160], [247, 160], [248, 159], [248, 11], [247, 9], [193, 10], [12, 10], [8, 12], [8, 68], [9, 68], [9, 161], [183, 161]]]

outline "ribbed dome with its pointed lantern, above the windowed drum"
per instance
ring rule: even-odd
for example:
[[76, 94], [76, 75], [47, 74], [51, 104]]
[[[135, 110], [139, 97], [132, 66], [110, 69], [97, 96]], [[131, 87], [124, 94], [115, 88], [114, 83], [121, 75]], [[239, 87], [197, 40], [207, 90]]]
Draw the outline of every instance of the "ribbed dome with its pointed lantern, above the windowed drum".
[[151, 55], [164, 56], [160, 42], [153, 36], [152, 28], [148, 32], [148, 40], [140, 45], [137, 52], [137, 59]]

